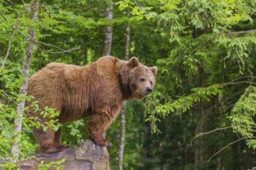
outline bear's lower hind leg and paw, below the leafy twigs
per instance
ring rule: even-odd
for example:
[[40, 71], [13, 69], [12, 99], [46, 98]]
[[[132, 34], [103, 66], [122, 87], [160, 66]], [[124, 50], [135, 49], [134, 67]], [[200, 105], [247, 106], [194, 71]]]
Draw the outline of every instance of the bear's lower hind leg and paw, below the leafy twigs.
[[40, 145], [40, 151], [43, 153], [55, 153], [58, 151], [63, 151], [64, 148], [57, 148], [55, 145], [55, 132], [54, 129], [47, 129], [43, 131], [43, 128], [34, 129], [34, 134]]

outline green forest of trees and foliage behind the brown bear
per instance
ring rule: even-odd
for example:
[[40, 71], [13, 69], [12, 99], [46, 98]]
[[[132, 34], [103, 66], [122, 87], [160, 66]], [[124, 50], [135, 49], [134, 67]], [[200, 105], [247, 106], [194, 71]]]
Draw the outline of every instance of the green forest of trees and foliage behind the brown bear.
[[[33, 28], [29, 76], [52, 61], [82, 66], [108, 53], [158, 67], [154, 93], [127, 102], [106, 134], [113, 142], [111, 169], [119, 168], [122, 118], [124, 169], [256, 166], [255, 0], [46, 0], [37, 19], [30, 16], [32, 2], [0, 0], [0, 158], [11, 155], [16, 141], [22, 63]], [[25, 159], [38, 144], [26, 116], [20, 118]], [[61, 127], [65, 145], [88, 138], [86, 120]]]

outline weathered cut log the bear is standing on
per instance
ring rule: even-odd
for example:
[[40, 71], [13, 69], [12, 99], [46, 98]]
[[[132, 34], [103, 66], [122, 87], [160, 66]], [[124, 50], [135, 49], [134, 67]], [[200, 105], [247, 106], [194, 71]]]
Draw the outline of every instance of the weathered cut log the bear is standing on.
[[[64, 166], [62, 169], [77, 170], [109, 170], [109, 154], [106, 147], [96, 145], [90, 140], [81, 141], [78, 147], [67, 148], [53, 154], [33, 154], [28, 155], [36, 158], [19, 162], [19, 166], [23, 170], [38, 169], [38, 166], [43, 161], [43, 164], [50, 162], [58, 162], [63, 158], [66, 161], [61, 163]], [[0, 162], [2, 164], [3, 162]], [[2, 170], [2, 168], [0, 168]], [[56, 169], [56, 168], [50, 168]]]

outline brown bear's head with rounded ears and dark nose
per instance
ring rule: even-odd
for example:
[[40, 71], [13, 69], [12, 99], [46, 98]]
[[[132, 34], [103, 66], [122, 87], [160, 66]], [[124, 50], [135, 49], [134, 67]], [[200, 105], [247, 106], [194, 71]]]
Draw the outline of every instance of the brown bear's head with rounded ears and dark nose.
[[122, 66], [120, 76], [125, 98], [142, 100], [153, 90], [157, 67], [144, 66], [136, 57], [132, 57]]

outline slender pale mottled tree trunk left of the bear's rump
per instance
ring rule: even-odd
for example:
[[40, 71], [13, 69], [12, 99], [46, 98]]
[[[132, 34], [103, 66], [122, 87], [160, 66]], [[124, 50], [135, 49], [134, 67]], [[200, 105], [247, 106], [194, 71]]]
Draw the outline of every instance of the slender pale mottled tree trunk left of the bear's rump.
[[[37, 11], [39, 6], [39, 0], [34, 0], [31, 2], [30, 9], [30, 19], [36, 20], [37, 19]], [[35, 28], [29, 28], [28, 29], [28, 36], [26, 39], [26, 51], [22, 63], [22, 77], [24, 77], [24, 81], [22, 83], [22, 86], [19, 90], [19, 97], [21, 97], [21, 101], [17, 104], [16, 112], [17, 117], [14, 121], [14, 131], [15, 134], [13, 135], [13, 145], [12, 145], [12, 152], [11, 155], [14, 158], [19, 158], [19, 141], [21, 139], [21, 131], [22, 131], [22, 116], [24, 113], [24, 107], [25, 107], [25, 96], [26, 96], [26, 90], [28, 86], [29, 81], [29, 66], [30, 61], [32, 58], [33, 53], [33, 46], [36, 39], [36, 29]]]

